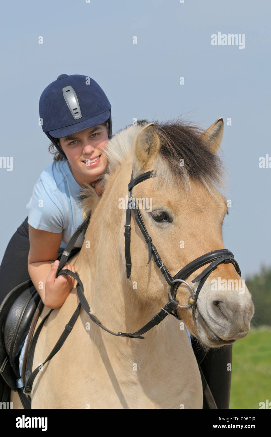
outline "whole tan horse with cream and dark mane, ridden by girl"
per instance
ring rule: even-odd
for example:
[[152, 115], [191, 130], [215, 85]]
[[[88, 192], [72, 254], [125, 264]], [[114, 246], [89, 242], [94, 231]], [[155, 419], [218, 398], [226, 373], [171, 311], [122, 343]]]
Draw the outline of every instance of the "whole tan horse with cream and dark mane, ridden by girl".
[[[202, 254], [224, 248], [227, 205], [219, 191], [224, 182], [218, 156], [222, 135], [222, 118], [206, 131], [178, 119], [144, 120], [108, 142], [103, 152], [109, 162], [103, 196], [99, 198], [91, 186], [82, 189], [84, 218], [90, 211], [92, 215], [82, 249], [71, 264], [84, 285], [91, 313], [111, 331], [134, 333], [168, 302], [168, 284], [160, 268], [153, 260], [146, 265], [148, 250], [133, 211], [132, 267], [127, 277], [124, 225], [131, 172], [134, 178], [152, 172], [153, 177], [133, 187], [133, 198], [151, 201], [151, 208], [141, 205], [141, 216], [173, 276]], [[41, 366], [31, 408], [201, 409], [202, 380], [183, 326], [202, 347], [223, 347], [247, 335], [254, 305], [244, 284], [243, 291], [214, 289], [215, 281], [240, 281], [233, 264], [223, 263], [202, 286], [193, 317], [189, 298], [190, 288], [197, 289], [194, 278], [193, 273], [178, 287], [177, 317], [169, 314], [144, 340], [111, 335], [81, 308], [62, 348]], [[64, 305], [51, 313], [38, 337], [33, 368], [51, 352], [78, 303], [74, 288]], [[40, 320], [48, 311], [44, 307]], [[15, 407], [15, 392], [11, 401]]]

